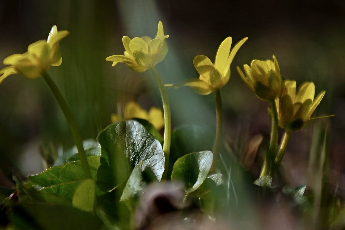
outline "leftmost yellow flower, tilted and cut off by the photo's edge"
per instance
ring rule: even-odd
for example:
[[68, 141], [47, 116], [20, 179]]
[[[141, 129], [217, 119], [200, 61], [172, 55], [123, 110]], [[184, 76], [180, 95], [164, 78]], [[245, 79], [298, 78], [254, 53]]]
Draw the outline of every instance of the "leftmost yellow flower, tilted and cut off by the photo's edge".
[[47, 40], [32, 43], [28, 46], [28, 52], [26, 53], [6, 57], [3, 64], [11, 66], [0, 70], [0, 83], [7, 76], [16, 73], [34, 79], [41, 76], [50, 66], [61, 65], [62, 58], [59, 42], [68, 34], [67, 30], [58, 31], [56, 25], [54, 25]]

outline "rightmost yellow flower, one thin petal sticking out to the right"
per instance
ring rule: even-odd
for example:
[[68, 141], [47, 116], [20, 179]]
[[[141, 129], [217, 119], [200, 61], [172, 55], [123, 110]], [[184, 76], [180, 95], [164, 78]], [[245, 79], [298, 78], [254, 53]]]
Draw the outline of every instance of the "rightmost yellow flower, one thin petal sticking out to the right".
[[282, 95], [276, 98], [279, 126], [289, 131], [304, 128], [310, 121], [334, 115], [310, 118], [326, 91], [321, 91], [315, 98], [313, 82], [303, 82], [296, 92], [296, 82], [285, 80]]

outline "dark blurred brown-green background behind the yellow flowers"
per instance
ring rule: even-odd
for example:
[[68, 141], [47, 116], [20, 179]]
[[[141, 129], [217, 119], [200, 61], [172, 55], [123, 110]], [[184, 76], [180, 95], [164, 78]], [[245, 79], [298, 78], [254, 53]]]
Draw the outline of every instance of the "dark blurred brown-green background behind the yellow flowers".
[[[297, 85], [313, 81], [316, 94], [326, 90], [314, 116], [336, 115], [321, 125], [329, 133], [330, 183], [339, 185], [338, 192], [344, 194], [344, 1], [0, 1], [0, 60], [46, 39], [54, 24], [59, 30], [69, 30], [60, 43], [62, 65], [51, 67], [49, 73], [76, 116], [83, 138], [96, 138], [110, 124], [110, 114], [123, 112], [129, 100], [146, 109], [162, 107], [149, 71], [135, 73], [124, 64], [111, 67], [105, 61], [124, 51], [124, 35], [154, 37], [159, 20], [170, 35], [168, 55], [157, 65], [165, 83], [197, 78], [194, 56], [206, 55], [214, 61], [227, 36], [233, 44], [248, 36], [221, 90], [223, 134], [230, 147], [237, 146], [230, 148], [236, 154], [255, 134], [268, 137], [270, 127], [268, 103], [259, 101], [242, 82], [237, 65], [271, 59], [274, 54], [285, 79]], [[187, 123], [215, 127], [212, 95], [200, 96], [187, 87], [168, 89], [168, 94], [173, 127]], [[283, 159], [295, 186], [308, 182], [313, 127], [318, 123], [293, 133]], [[42, 78], [12, 75], [0, 85], [1, 186], [13, 185], [12, 174], [23, 178], [45, 169], [49, 160], [42, 160], [42, 155], [59, 156], [72, 146], [65, 117]]]

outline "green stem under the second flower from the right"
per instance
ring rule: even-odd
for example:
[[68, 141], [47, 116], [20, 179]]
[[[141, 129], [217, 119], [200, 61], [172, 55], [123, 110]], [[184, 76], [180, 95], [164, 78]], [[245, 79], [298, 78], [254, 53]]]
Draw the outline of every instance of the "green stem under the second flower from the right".
[[270, 175], [273, 164], [274, 164], [274, 155], [275, 155], [275, 151], [277, 149], [277, 143], [278, 143], [278, 115], [277, 115], [276, 104], [274, 100], [270, 101], [269, 104], [271, 105], [271, 109], [272, 109], [271, 136], [270, 136], [268, 151], [266, 153], [264, 165], [262, 166], [259, 178]]

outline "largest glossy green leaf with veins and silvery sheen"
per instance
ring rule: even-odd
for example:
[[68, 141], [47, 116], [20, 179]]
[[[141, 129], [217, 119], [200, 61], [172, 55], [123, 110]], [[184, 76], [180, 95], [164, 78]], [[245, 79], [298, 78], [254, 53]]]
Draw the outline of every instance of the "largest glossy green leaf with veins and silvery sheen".
[[111, 124], [99, 133], [97, 140], [102, 152], [97, 183], [102, 191], [124, 183], [141, 161], [141, 171], [150, 168], [157, 179], [161, 179], [165, 162], [162, 146], [139, 122]]

